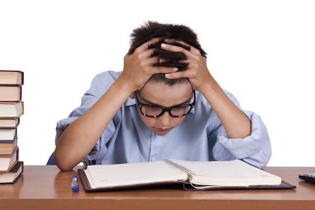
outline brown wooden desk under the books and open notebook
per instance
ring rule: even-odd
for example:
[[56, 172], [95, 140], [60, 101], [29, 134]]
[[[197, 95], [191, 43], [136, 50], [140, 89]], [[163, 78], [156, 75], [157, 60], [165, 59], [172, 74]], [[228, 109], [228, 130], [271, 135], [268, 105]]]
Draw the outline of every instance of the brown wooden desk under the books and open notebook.
[[24, 166], [15, 184], [0, 185], [0, 209], [315, 209], [315, 184], [298, 175], [314, 173], [315, 167], [266, 167], [264, 170], [297, 186], [278, 190], [185, 191], [181, 185], [166, 185], [116, 191], [71, 190], [72, 176], [56, 166]]

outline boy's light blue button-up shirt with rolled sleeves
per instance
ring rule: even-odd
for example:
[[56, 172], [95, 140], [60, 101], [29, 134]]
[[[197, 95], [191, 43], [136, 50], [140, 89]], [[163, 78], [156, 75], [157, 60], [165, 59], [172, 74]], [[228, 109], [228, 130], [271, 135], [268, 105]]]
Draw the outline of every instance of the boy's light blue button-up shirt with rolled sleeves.
[[[95, 76], [91, 88], [82, 97], [81, 106], [72, 111], [67, 119], [57, 123], [56, 143], [63, 130], [86, 112], [120, 74], [107, 71]], [[237, 99], [231, 93], [224, 92], [240, 108]], [[135, 99], [128, 98], [84, 161], [117, 164], [165, 158], [190, 161], [241, 159], [263, 168], [271, 156], [267, 128], [254, 112], [242, 111], [252, 121], [252, 134], [244, 139], [229, 139], [216, 113], [202, 93], [196, 91], [196, 105], [182, 123], [166, 135], [158, 136], [140, 119]]]

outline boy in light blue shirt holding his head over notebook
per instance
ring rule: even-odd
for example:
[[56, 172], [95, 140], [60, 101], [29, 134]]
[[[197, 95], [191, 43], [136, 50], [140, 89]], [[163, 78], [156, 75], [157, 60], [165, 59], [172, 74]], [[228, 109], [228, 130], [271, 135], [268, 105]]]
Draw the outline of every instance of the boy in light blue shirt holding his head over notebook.
[[81, 106], [58, 122], [54, 160], [61, 170], [82, 160], [237, 158], [267, 165], [266, 127], [220, 88], [192, 30], [148, 22], [131, 37], [123, 71], [98, 74]]

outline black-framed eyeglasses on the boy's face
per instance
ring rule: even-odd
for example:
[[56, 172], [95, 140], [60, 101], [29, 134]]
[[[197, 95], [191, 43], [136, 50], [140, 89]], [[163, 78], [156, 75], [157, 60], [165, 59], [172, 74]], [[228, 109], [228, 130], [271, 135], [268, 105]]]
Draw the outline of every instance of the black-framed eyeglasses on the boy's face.
[[180, 118], [191, 111], [191, 109], [195, 106], [196, 96], [195, 90], [193, 92], [193, 102], [191, 104], [184, 104], [179, 106], [172, 106], [172, 107], [162, 107], [162, 106], [155, 106], [150, 104], [143, 104], [140, 103], [137, 98], [137, 93], [134, 92], [135, 98], [137, 100], [138, 107], [140, 108], [140, 112], [142, 115], [150, 118], [158, 118], [159, 116], [163, 115], [164, 112], [168, 112], [170, 116], [174, 118]]

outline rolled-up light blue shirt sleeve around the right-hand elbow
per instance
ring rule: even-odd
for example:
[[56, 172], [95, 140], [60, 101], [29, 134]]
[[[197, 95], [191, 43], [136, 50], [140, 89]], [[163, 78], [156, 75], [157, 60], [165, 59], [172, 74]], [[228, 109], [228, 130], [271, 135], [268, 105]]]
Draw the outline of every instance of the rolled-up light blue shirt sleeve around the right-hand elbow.
[[[230, 99], [240, 108], [239, 102], [233, 95]], [[241, 109], [242, 110], [242, 109]], [[271, 144], [266, 126], [261, 117], [252, 111], [242, 110], [252, 121], [252, 133], [244, 139], [230, 139], [223, 126], [219, 126], [212, 134], [217, 138], [213, 147], [215, 160], [240, 159], [257, 168], [264, 168], [271, 157]]]

